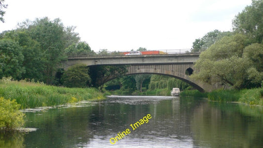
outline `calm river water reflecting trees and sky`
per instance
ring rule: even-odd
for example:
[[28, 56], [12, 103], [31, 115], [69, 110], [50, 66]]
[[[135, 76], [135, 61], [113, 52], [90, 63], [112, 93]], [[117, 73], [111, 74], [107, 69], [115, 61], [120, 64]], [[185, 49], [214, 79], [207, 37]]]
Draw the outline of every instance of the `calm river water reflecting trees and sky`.
[[110, 96], [26, 112], [26, 127], [0, 148], [263, 148], [263, 107], [187, 97]]

